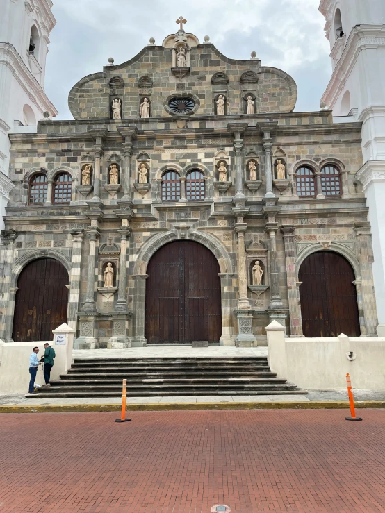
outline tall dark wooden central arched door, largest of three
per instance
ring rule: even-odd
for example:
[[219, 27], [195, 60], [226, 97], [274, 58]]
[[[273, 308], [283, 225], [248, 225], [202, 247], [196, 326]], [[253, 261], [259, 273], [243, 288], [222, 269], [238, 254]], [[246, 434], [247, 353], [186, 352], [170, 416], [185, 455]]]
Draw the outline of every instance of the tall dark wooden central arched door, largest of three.
[[193, 241], [165, 244], [147, 267], [145, 337], [148, 344], [219, 342], [220, 267]]

